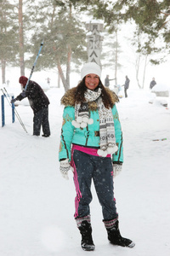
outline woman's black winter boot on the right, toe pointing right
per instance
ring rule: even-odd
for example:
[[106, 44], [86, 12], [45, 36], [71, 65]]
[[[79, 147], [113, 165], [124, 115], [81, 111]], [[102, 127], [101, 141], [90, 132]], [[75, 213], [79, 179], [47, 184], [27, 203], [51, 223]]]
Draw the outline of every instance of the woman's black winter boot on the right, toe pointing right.
[[114, 220], [104, 221], [104, 223], [107, 230], [108, 239], [109, 241], [111, 241], [111, 244], [130, 248], [135, 246], [135, 243], [133, 241], [121, 236], [118, 220], [116, 220], [115, 222]]

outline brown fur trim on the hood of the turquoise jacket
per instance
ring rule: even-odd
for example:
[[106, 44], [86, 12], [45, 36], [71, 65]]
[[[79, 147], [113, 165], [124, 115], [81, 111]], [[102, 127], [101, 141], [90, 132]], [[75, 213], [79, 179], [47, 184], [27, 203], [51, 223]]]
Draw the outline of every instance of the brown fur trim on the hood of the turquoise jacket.
[[[73, 87], [70, 90], [67, 90], [65, 92], [65, 95], [62, 96], [61, 98], [61, 105], [64, 105], [65, 107], [68, 106], [75, 106], [76, 99], [75, 99], [75, 94], [76, 94], [77, 87]], [[118, 97], [116, 96], [116, 93], [109, 88], [105, 88], [108, 94], [111, 96], [111, 103], [114, 105], [116, 102], [119, 102]], [[96, 102], [88, 102], [88, 108], [92, 111], [97, 109], [97, 103]]]

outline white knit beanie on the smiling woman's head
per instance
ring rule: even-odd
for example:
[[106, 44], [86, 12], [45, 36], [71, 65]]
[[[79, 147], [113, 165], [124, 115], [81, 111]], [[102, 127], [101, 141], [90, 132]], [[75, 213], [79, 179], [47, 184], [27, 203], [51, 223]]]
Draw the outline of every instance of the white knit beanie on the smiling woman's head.
[[81, 79], [83, 79], [88, 73], [95, 73], [100, 78], [101, 68], [95, 62], [85, 63], [84, 66], [81, 69]]

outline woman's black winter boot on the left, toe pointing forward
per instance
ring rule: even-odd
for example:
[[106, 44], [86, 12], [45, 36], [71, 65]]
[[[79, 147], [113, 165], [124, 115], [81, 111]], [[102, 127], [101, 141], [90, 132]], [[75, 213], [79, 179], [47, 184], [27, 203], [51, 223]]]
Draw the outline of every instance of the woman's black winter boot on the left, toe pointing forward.
[[92, 239], [92, 227], [91, 224], [88, 223], [87, 220], [83, 220], [80, 227], [78, 227], [80, 233], [82, 235], [82, 249], [84, 251], [94, 251], [94, 241]]

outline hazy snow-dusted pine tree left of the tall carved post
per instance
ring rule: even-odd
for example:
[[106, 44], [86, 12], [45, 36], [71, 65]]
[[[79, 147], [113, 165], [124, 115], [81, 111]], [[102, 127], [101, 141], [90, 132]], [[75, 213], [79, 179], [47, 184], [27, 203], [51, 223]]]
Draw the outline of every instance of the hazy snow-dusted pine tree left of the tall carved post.
[[[87, 59], [86, 34], [70, 1], [63, 5], [48, 0], [39, 4], [37, 29], [31, 37], [31, 51], [35, 58], [39, 43], [44, 39], [41, 61], [37, 69], [57, 67], [65, 90], [70, 88], [71, 61], [77, 65]], [[53, 3], [53, 4], [52, 4]], [[74, 11], [74, 12], [73, 12]]]

